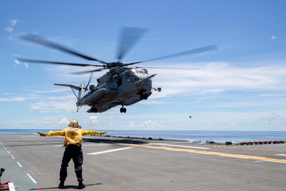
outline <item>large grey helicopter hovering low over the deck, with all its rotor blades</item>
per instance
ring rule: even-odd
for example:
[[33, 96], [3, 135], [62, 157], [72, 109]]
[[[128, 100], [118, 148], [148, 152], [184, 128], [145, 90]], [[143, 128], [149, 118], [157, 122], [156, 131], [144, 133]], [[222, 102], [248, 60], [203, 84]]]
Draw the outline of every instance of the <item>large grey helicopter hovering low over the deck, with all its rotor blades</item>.
[[[91, 72], [90, 79], [86, 87], [81, 83], [79, 86], [75, 86], [72, 84], [54, 84], [58, 86], [67, 86], [78, 90], [79, 93], [76, 95], [78, 106], [77, 112], [80, 110], [82, 106], [88, 105], [91, 108], [87, 110], [88, 113], [102, 113], [113, 107], [121, 105], [120, 108], [121, 113], [126, 113], [126, 108], [124, 106], [130, 106], [139, 101], [146, 100], [151, 94], [152, 90], [161, 91], [161, 88], [153, 88], [152, 80], [156, 74], [149, 75], [146, 69], [143, 68], [156, 68], [156, 67], [134, 67], [130, 66], [133, 64], [138, 64], [142, 62], [149, 62], [154, 60], [161, 60], [166, 58], [172, 58], [177, 56], [184, 56], [189, 54], [197, 54], [202, 52], [208, 52], [212, 50], [218, 50], [218, 48], [214, 45], [206, 46], [202, 48], [192, 49], [176, 54], [171, 54], [168, 56], [162, 56], [158, 58], [153, 58], [149, 60], [144, 60], [140, 62], [132, 62], [128, 64], [124, 64], [121, 62], [121, 59], [125, 55], [125, 53], [130, 49], [131, 46], [135, 44], [135, 42], [139, 39], [140, 36], [147, 31], [146, 28], [137, 28], [137, 27], [124, 27], [122, 30], [122, 39], [119, 44], [119, 51], [117, 62], [104, 62], [98, 60], [96, 58], [92, 58], [90, 56], [86, 56], [74, 50], [65, 48], [62, 45], [51, 42], [45, 38], [42, 38], [38, 35], [28, 33], [20, 36], [20, 38], [24, 40], [30, 40], [32, 42], [48, 46], [51, 48], [55, 48], [57, 50], [61, 50], [63, 52], [73, 54], [76, 56], [80, 56], [87, 60], [97, 61], [103, 64], [80, 64], [80, 63], [69, 63], [69, 62], [54, 62], [54, 61], [45, 61], [45, 60], [34, 60], [34, 59], [23, 59], [23, 58], [15, 58], [22, 62], [35, 62], [35, 63], [46, 63], [46, 64], [66, 64], [73, 66], [94, 66], [101, 67], [96, 70], [88, 70], [77, 72], [74, 74], [83, 74], [87, 72]], [[92, 79], [93, 72], [98, 72], [100, 70], [108, 69], [103, 76], [97, 78], [97, 85], [90, 85], [89, 83]], [[185, 70], [187, 68], [167, 68], [167, 69], [182, 69]], [[84, 94], [88, 90], [89, 91]]]

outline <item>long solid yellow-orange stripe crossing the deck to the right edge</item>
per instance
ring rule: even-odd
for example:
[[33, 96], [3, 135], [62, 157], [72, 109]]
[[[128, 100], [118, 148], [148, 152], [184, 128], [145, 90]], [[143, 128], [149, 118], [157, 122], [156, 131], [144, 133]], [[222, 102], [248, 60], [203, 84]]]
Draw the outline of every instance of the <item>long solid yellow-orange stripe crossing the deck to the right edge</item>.
[[172, 150], [172, 151], [185, 151], [185, 152], [191, 152], [191, 153], [202, 153], [202, 154], [211, 154], [211, 155], [220, 155], [220, 156], [230, 156], [230, 157], [237, 157], [237, 158], [243, 158], [243, 159], [255, 159], [255, 160], [262, 160], [262, 161], [269, 161], [269, 162], [286, 163], [286, 160], [265, 158], [265, 157], [245, 156], [245, 155], [227, 154], [227, 153], [216, 153], [216, 152], [209, 152], [209, 151], [196, 151], [196, 150], [189, 150], [189, 149], [175, 149], [175, 148], [168, 148], [168, 147], [154, 147], [154, 146], [148, 146], [148, 145], [136, 145], [136, 144], [125, 144], [125, 143], [117, 143], [117, 144], [137, 146], [137, 147], [147, 147], [147, 148], [154, 148], [154, 149], [165, 149], [165, 150]]

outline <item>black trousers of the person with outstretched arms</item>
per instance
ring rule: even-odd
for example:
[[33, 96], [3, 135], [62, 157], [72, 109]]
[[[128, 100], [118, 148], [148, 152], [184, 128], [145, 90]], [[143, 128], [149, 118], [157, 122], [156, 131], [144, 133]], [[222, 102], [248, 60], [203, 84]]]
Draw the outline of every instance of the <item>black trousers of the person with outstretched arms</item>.
[[74, 162], [76, 178], [78, 178], [79, 183], [82, 183], [82, 164], [84, 162], [84, 157], [82, 154], [82, 148], [74, 144], [70, 144], [65, 148], [63, 160], [61, 161], [61, 170], [59, 171], [59, 180], [65, 181], [65, 178], [67, 178], [67, 167], [69, 166], [68, 164], [71, 159]]

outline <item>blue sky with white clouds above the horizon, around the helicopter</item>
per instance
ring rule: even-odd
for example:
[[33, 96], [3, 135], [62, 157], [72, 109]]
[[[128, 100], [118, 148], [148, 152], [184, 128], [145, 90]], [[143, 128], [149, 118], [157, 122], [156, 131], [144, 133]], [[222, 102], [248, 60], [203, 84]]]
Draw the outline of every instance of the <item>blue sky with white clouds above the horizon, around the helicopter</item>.
[[[285, 1], [0, 1], [3, 129], [253, 130], [286, 128]], [[122, 27], [148, 32], [123, 62], [216, 45], [219, 50], [137, 64], [157, 74], [148, 100], [104, 113], [76, 112], [70, 88], [90, 68], [23, 63], [15, 57], [93, 63], [18, 38], [35, 32], [105, 62], [114, 62]], [[96, 78], [106, 71], [94, 75]], [[188, 116], [191, 115], [190, 119]]]

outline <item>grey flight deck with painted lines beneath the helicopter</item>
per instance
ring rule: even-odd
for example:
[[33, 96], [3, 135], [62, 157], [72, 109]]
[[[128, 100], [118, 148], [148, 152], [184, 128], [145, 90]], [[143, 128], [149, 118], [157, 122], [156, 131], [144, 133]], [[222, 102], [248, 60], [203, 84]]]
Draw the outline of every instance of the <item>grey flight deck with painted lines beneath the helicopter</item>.
[[[72, 161], [65, 187], [57, 187], [63, 141], [64, 137], [0, 134], [0, 167], [5, 168], [1, 182], [12, 180], [17, 191], [77, 189]], [[86, 191], [286, 188], [284, 143], [210, 145], [84, 136], [82, 145]]]

